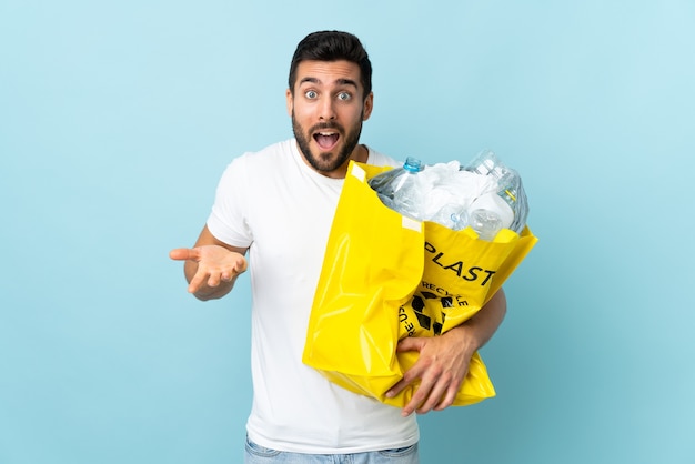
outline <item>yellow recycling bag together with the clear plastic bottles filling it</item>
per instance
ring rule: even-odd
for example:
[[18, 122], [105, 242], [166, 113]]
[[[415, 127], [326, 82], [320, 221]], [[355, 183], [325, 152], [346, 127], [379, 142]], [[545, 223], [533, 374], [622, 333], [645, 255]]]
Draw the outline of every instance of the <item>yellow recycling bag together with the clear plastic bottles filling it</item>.
[[[406, 336], [439, 336], [497, 292], [537, 239], [518, 174], [486, 151], [471, 163], [351, 161], [326, 244], [302, 360], [352, 392], [385, 393], [417, 361]], [[479, 353], [454, 405], [495, 395]]]

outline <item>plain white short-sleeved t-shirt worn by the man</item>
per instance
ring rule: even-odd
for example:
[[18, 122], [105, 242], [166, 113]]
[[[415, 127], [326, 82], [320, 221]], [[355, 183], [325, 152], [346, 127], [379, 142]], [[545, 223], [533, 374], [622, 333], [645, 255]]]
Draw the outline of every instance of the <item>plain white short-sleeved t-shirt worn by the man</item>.
[[[396, 161], [370, 149], [369, 164]], [[417, 442], [414, 415], [344, 390], [302, 363], [306, 326], [342, 179], [319, 174], [294, 139], [226, 168], [208, 228], [249, 249], [253, 296], [249, 437], [295, 453], [357, 453]]]

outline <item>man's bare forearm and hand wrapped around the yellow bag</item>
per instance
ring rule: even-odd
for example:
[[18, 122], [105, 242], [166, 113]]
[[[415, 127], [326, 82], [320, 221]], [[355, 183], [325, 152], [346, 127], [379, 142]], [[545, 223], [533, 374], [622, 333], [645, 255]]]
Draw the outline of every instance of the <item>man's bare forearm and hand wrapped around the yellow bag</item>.
[[451, 406], [469, 372], [471, 356], [496, 332], [505, 313], [506, 297], [500, 289], [473, 317], [445, 334], [403, 339], [397, 351], [417, 351], [420, 356], [386, 395], [395, 396], [414, 380], [421, 380], [420, 387], [403, 408], [403, 415]]

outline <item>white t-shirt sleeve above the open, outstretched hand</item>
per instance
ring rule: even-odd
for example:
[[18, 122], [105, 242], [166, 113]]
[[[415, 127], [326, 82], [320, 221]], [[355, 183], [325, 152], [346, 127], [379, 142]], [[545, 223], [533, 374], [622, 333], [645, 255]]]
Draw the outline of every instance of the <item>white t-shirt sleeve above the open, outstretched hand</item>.
[[208, 218], [210, 232], [232, 246], [249, 248], [253, 242], [248, 215], [248, 179], [244, 157], [234, 159], [220, 179]]

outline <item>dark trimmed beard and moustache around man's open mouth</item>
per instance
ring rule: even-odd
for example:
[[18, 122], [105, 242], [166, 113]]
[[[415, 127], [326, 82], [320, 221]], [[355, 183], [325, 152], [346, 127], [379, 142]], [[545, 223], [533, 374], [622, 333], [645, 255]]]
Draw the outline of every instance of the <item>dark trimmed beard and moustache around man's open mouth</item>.
[[[311, 134], [323, 129], [333, 129], [340, 134], [339, 140], [343, 141], [343, 148], [339, 150], [338, 155], [332, 151], [319, 153], [311, 151]], [[309, 165], [319, 172], [332, 172], [342, 167], [350, 159], [355, 147], [357, 147], [362, 133], [362, 118], [360, 118], [360, 122], [354, 124], [348, 132], [336, 122], [323, 122], [313, 125], [309, 130], [304, 130], [294, 118], [294, 111], [292, 111], [292, 131], [294, 132], [294, 138], [300, 147], [300, 151]]]

